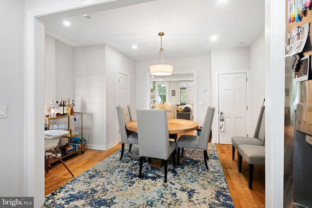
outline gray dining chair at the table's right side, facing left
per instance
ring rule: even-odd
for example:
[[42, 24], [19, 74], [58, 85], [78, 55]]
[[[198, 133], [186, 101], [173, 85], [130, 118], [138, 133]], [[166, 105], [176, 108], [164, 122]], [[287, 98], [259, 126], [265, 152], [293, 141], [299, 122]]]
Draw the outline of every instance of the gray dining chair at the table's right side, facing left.
[[214, 114], [215, 114], [215, 108], [208, 107], [200, 136], [183, 134], [179, 137], [179, 139], [176, 142], [177, 165], [179, 165], [179, 160], [180, 160], [180, 148], [200, 149], [200, 150], [204, 150], [204, 161], [205, 161], [206, 169], [208, 170], [208, 165], [207, 165], [208, 139], [209, 139], [209, 135], [211, 131], [211, 125], [214, 120]]

